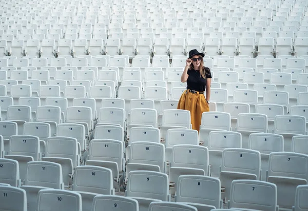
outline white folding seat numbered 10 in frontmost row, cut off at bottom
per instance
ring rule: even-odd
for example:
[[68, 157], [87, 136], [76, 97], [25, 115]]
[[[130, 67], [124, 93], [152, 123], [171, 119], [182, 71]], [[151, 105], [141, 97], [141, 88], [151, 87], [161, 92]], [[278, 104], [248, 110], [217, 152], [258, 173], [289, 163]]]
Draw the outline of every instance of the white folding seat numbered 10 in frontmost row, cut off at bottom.
[[[54, 199], [54, 201], [52, 199]], [[82, 210], [82, 198], [79, 193], [59, 189], [44, 189], [38, 192], [37, 211], [46, 209], [51, 203], [55, 209], [59, 210]]]

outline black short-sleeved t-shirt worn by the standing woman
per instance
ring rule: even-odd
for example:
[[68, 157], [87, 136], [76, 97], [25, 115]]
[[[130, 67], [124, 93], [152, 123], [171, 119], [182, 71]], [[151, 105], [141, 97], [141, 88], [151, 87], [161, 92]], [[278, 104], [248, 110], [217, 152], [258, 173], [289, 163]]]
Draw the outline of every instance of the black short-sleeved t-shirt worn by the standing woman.
[[189, 75], [186, 81], [187, 89], [204, 92], [206, 87], [206, 78], [211, 78], [210, 71], [206, 71], [205, 79], [200, 75], [198, 70], [188, 69], [187, 74]]

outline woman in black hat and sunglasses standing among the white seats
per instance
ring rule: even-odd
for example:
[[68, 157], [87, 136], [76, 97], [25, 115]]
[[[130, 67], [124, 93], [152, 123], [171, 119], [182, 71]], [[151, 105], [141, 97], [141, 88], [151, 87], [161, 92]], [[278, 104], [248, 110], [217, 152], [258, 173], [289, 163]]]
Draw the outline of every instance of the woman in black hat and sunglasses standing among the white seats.
[[[204, 53], [196, 49], [189, 51], [181, 82], [187, 82], [187, 90], [183, 92], [178, 109], [190, 111], [192, 129], [199, 132], [202, 113], [209, 111], [211, 74], [203, 66]], [[204, 96], [206, 92], [206, 97]]]

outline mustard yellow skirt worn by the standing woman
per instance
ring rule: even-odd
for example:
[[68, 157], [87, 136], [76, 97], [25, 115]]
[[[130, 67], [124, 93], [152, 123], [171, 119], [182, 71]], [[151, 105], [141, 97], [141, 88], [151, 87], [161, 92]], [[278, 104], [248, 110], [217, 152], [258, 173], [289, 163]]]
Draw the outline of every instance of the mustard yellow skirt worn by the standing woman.
[[204, 94], [196, 94], [186, 90], [183, 92], [178, 103], [178, 109], [190, 111], [192, 130], [199, 132], [203, 112], [208, 112], [209, 107]]

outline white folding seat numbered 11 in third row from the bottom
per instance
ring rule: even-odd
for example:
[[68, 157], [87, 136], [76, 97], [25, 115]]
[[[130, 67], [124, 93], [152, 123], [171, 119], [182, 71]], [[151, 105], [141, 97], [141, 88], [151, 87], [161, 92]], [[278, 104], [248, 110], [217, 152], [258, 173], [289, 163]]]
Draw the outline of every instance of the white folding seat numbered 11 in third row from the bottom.
[[[92, 139], [89, 144], [89, 160], [86, 161], [86, 165], [96, 165], [109, 168], [110, 173], [112, 173], [110, 175], [110, 180], [112, 181], [113, 178], [116, 179], [114, 183], [116, 185], [120, 175], [122, 175], [124, 166], [123, 141], [112, 139]], [[113, 192], [109, 193], [109, 195], [113, 195]]]

